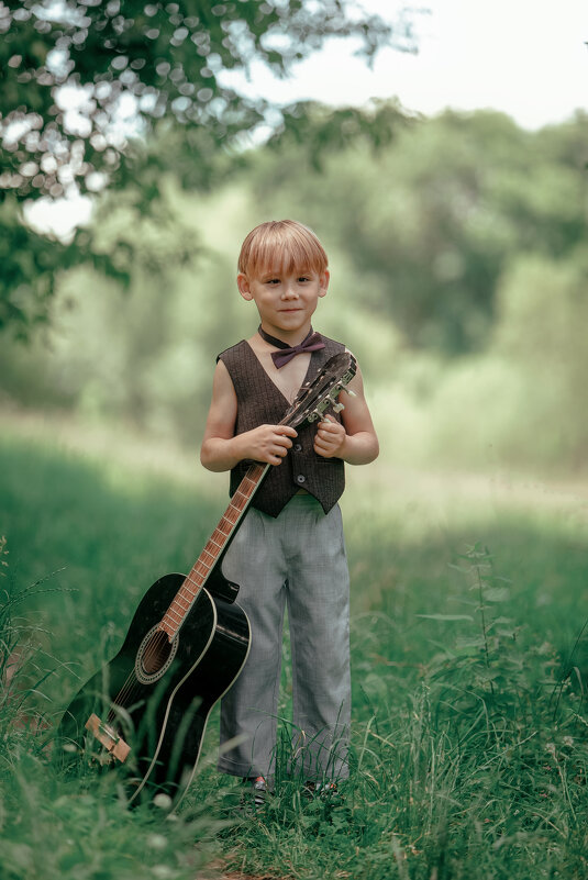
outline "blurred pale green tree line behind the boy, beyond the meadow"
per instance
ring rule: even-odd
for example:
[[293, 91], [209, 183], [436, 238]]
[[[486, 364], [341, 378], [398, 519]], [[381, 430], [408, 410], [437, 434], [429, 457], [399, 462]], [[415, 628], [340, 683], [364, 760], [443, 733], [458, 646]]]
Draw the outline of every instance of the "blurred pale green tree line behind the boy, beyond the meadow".
[[215, 356], [257, 323], [234, 283], [241, 242], [268, 216], [298, 216], [330, 256], [317, 326], [358, 357], [388, 460], [583, 469], [585, 119], [530, 133], [493, 113], [400, 121], [381, 104], [365, 111], [381, 126], [375, 149], [362, 133], [345, 144], [337, 113], [339, 155], [313, 108], [304, 147], [285, 133], [213, 193], [195, 199], [166, 178], [157, 222], [137, 224], [121, 197], [93, 234], [127, 296], [102, 272], [64, 272], [49, 326], [26, 348], [0, 347], [4, 399], [193, 449]]

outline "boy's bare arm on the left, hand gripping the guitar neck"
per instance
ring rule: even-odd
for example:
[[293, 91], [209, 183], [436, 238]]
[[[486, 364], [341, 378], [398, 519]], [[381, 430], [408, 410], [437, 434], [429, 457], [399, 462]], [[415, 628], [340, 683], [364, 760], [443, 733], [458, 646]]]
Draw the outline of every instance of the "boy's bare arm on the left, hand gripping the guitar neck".
[[212, 401], [200, 449], [208, 470], [231, 470], [244, 458], [279, 465], [297, 433], [288, 425], [259, 425], [235, 436], [237, 400], [229, 370], [219, 360], [212, 381]]

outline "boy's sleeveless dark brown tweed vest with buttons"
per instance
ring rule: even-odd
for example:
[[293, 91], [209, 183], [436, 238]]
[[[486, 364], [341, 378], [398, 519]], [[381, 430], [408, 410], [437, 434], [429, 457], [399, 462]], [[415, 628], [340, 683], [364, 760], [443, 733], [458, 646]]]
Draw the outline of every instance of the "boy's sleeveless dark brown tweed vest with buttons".
[[[323, 336], [325, 347], [313, 352], [304, 381], [312, 380], [318, 370], [345, 346]], [[275, 425], [284, 419], [289, 402], [274, 385], [245, 339], [219, 355], [229, 370], [237, 398], [235, 434], [258, 425]], [[340, 420], [339, 414], [331, 413]], [[340, 420], [341, 421], [341, 420]], [[341, 458], [322, 458], [313, 449], [317, 423], [297, 428], [298, 437], [280, 465], [269, 468], [255, 493], [252, 506], [277, 516], [288, 501], [306, 489], [317, 498], [325, 513], [339, 501], [345, 488], [345, 468]], [[252, 463], [240, 461], [231, 471], [230, 491], [233, 494]]]

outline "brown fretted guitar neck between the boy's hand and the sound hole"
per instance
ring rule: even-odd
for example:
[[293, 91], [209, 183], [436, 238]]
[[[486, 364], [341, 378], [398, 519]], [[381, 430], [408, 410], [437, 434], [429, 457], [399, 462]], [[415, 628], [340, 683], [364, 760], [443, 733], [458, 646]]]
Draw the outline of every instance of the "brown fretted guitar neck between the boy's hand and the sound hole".
[[159, 628], [166, 632], [170, 639], [178, 632], [187, 612], [236, 532], [245, 511], [269, 468], [270, 465], [252, 465], [241, 480], [219, 524], [209, 537], [204, 549], [193, 564], [190, 573], [176, 593], [159, 624]]

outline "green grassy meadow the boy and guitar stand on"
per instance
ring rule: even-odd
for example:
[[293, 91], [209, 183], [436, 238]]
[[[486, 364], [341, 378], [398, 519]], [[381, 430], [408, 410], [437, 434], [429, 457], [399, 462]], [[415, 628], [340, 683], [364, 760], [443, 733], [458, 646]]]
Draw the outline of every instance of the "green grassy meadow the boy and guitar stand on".
[[[384, 457], [386, 461], [386, 457]], [[181, 811], [129, 811], [115, 773], [63, 778], [52, 732], [138, 599], [185, 570], [222, 477], [142, 438], [8, 417], [0, 441], [2, 880], [586, 877], [588, 493], [531, 478], [355, 469], [352, 772], [285, 772], [238, 810], [214, 712]], [[288, 655], [288, 644], [285, 644]]]

